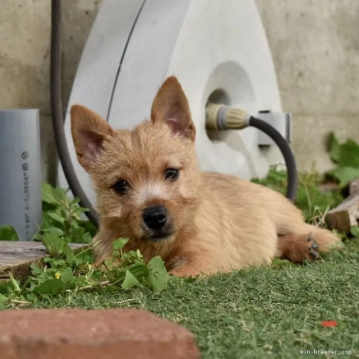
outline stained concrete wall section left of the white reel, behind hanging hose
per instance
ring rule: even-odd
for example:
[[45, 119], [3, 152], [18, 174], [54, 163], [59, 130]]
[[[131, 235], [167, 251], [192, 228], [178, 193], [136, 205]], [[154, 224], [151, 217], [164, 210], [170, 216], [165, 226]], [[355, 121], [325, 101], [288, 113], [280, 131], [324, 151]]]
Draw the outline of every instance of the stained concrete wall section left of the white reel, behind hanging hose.
[[[101, 1], [63, 0], [63, 101]], [[42, 177], [56, 176], [50, 110], [50, 0], [0, 1], [0, 108], [39, 108]]]

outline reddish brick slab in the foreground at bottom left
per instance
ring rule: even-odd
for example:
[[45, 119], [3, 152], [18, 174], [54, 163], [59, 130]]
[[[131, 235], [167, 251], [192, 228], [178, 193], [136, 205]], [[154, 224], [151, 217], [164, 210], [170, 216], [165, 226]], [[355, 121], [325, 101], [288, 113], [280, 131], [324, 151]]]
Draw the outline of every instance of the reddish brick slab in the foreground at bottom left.
[[139, 309], [0, 312], [1, 359], [199, 359], [187, 329]]

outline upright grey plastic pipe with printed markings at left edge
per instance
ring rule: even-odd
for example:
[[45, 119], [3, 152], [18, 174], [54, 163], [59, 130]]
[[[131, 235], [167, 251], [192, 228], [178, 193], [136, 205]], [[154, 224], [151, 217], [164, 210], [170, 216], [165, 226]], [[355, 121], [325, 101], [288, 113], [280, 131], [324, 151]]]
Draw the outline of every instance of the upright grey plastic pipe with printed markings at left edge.
[[0, 226], [30, 241], [41, 223], [38, 109], [0, 110]]

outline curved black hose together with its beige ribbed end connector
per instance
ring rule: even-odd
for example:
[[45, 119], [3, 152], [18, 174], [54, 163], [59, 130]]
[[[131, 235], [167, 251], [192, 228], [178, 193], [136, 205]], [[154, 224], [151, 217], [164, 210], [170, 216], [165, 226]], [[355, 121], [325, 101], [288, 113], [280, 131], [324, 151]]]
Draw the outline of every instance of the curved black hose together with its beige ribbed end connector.
[[285, 138], [273, 126], [240, 108], [211, 103], [206, 107], [206, 128], [209, 130], [241, 130], [249, 126], [263, 131], [278, 145], [287, 167], [287, 198], [295, 202], [298, 187], [297, 168], [293, 152]]

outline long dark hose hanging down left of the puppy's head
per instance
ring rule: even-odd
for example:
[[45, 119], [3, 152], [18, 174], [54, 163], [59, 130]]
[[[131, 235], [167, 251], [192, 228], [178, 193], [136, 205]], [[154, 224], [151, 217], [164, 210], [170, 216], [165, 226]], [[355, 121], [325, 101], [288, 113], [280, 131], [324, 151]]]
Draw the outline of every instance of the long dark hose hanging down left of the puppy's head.
[[62, 35], [62, 1], [51, 0], [51, 51], [50, 51], [50, 98], [52, 125], [59, 159], [74, 197], [80, 199], [80, 206], [88, 208], [86, 212], [90, 221], [98, 226], [98, 216], [83, 191], [72, 166], [69, 148], [66, 143], [64, 116], [61, 96], [61, 35]]

